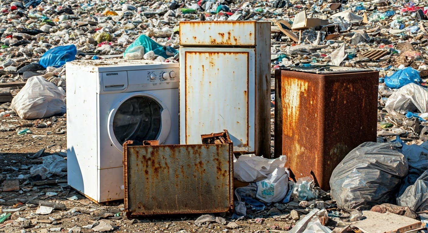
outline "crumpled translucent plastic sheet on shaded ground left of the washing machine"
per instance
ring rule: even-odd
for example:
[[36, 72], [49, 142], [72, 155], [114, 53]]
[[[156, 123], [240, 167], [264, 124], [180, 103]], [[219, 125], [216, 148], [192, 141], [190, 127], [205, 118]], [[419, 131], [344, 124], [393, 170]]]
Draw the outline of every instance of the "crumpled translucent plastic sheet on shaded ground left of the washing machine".
[[40, 175], [42, 180], [51, 177], [53, 174], [63, 177], [67, 174], [67, 161], [59, 155], [53, 154], [42, 157], [43, 164], [34, 165], [30, 168], [30, 175]]

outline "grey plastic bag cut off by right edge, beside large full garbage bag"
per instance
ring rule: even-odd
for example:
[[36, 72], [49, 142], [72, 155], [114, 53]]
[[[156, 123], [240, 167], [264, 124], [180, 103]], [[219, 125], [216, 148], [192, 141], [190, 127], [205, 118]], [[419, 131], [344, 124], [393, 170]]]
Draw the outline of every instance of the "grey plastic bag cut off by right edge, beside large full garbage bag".
[[404, 193], [397, 198], [399, 206], [408, 206], [413, 211], [422, 212], [428, 210], [428, 170], [407, 187]]

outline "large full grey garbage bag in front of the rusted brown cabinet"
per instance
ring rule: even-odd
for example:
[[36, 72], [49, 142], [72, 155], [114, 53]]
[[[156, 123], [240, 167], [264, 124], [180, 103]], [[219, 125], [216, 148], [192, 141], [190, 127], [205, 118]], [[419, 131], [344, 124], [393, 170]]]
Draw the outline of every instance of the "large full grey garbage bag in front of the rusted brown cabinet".
[[365, 142], [348, 153], [333, 170], [330, 195], [345, 211], [368, 210], [394, 203], [401, 179], [407, 176], [407, 159], [401, 140]]

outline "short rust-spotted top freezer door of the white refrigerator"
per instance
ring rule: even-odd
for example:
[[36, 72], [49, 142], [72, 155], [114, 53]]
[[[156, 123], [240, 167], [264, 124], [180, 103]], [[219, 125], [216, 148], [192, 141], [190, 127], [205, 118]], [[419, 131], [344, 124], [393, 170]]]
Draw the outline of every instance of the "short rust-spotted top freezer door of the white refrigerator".
[[181, 21], [180, 45], [254, 46], [256, 45], [256, 24], [259, 23], [256, 21]]

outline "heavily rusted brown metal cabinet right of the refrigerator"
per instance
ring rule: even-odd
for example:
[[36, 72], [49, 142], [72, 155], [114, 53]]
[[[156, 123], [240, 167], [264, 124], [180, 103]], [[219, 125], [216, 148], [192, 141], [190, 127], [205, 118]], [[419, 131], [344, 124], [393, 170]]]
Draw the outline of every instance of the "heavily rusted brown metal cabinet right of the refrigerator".
[[294, 178], [329, 190], [333, 169], [355, 147], [376, 142], [377, 71], [275, 71], [275, 157]]

